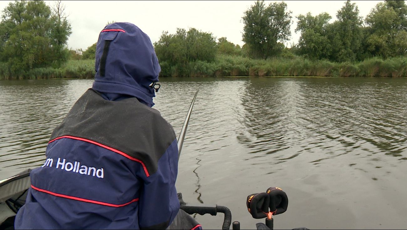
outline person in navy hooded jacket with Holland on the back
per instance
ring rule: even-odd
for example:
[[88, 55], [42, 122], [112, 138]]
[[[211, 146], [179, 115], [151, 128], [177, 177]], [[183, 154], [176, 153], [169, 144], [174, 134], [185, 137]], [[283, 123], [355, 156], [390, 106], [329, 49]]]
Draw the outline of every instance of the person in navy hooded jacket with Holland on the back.
[[107, 25], [95, 70], [31, 172], [15, 229], [165, 229], [179, 212], [177, 139], [151, 108], [161, 68], [150, 38], [131, 23]]

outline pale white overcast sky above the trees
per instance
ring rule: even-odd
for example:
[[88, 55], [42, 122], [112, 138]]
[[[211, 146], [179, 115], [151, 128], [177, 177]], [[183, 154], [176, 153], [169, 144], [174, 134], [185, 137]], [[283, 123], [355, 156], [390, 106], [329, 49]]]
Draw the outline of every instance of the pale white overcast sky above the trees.
[[[9, 2], [0, 0], [1, 11]], [[46, 1], [53, 5], [54, 1]], [[226, 37], [234, 44], [243, 45], [243, 12], [254, 4], [254, 0], [235, 1], [62, 1], [66, 6], [68, 20], [72, 26], [68, 47], [86, 50], [94, 44], [99, 32], [107, 22], [131, 22], [149, 35], [151, 42], [157, 42], [163, 31], [175, 33], [177, 28], [197, 28], [212, 33], [216, 38]], [[268, 5], [270, 2], [265, 1]], [[291, 42], [297, 43], [300, 34], [295, 34], [295, 16], [311, 12], [312, 15], [327, 12], [336, 20], [336, 13], [344, 6], [345, 0], [293, 1], [286, 0], [292, 11]], [[360, 15], [365, 18], [372, 8], [384, 1], [351, 1], [356, 3]]]

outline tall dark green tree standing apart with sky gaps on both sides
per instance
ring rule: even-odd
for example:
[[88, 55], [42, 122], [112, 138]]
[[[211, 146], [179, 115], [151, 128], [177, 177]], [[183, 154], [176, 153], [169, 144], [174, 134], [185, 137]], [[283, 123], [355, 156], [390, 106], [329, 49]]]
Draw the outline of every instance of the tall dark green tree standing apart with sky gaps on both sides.
[[264, 0], [257, 0], [244, 12], [243, 42], [250, 46], [252, 54], [267, 59], [281, 52], [291, 36], [291, 13], [284, 2], [272, 2], [266, 7]]

